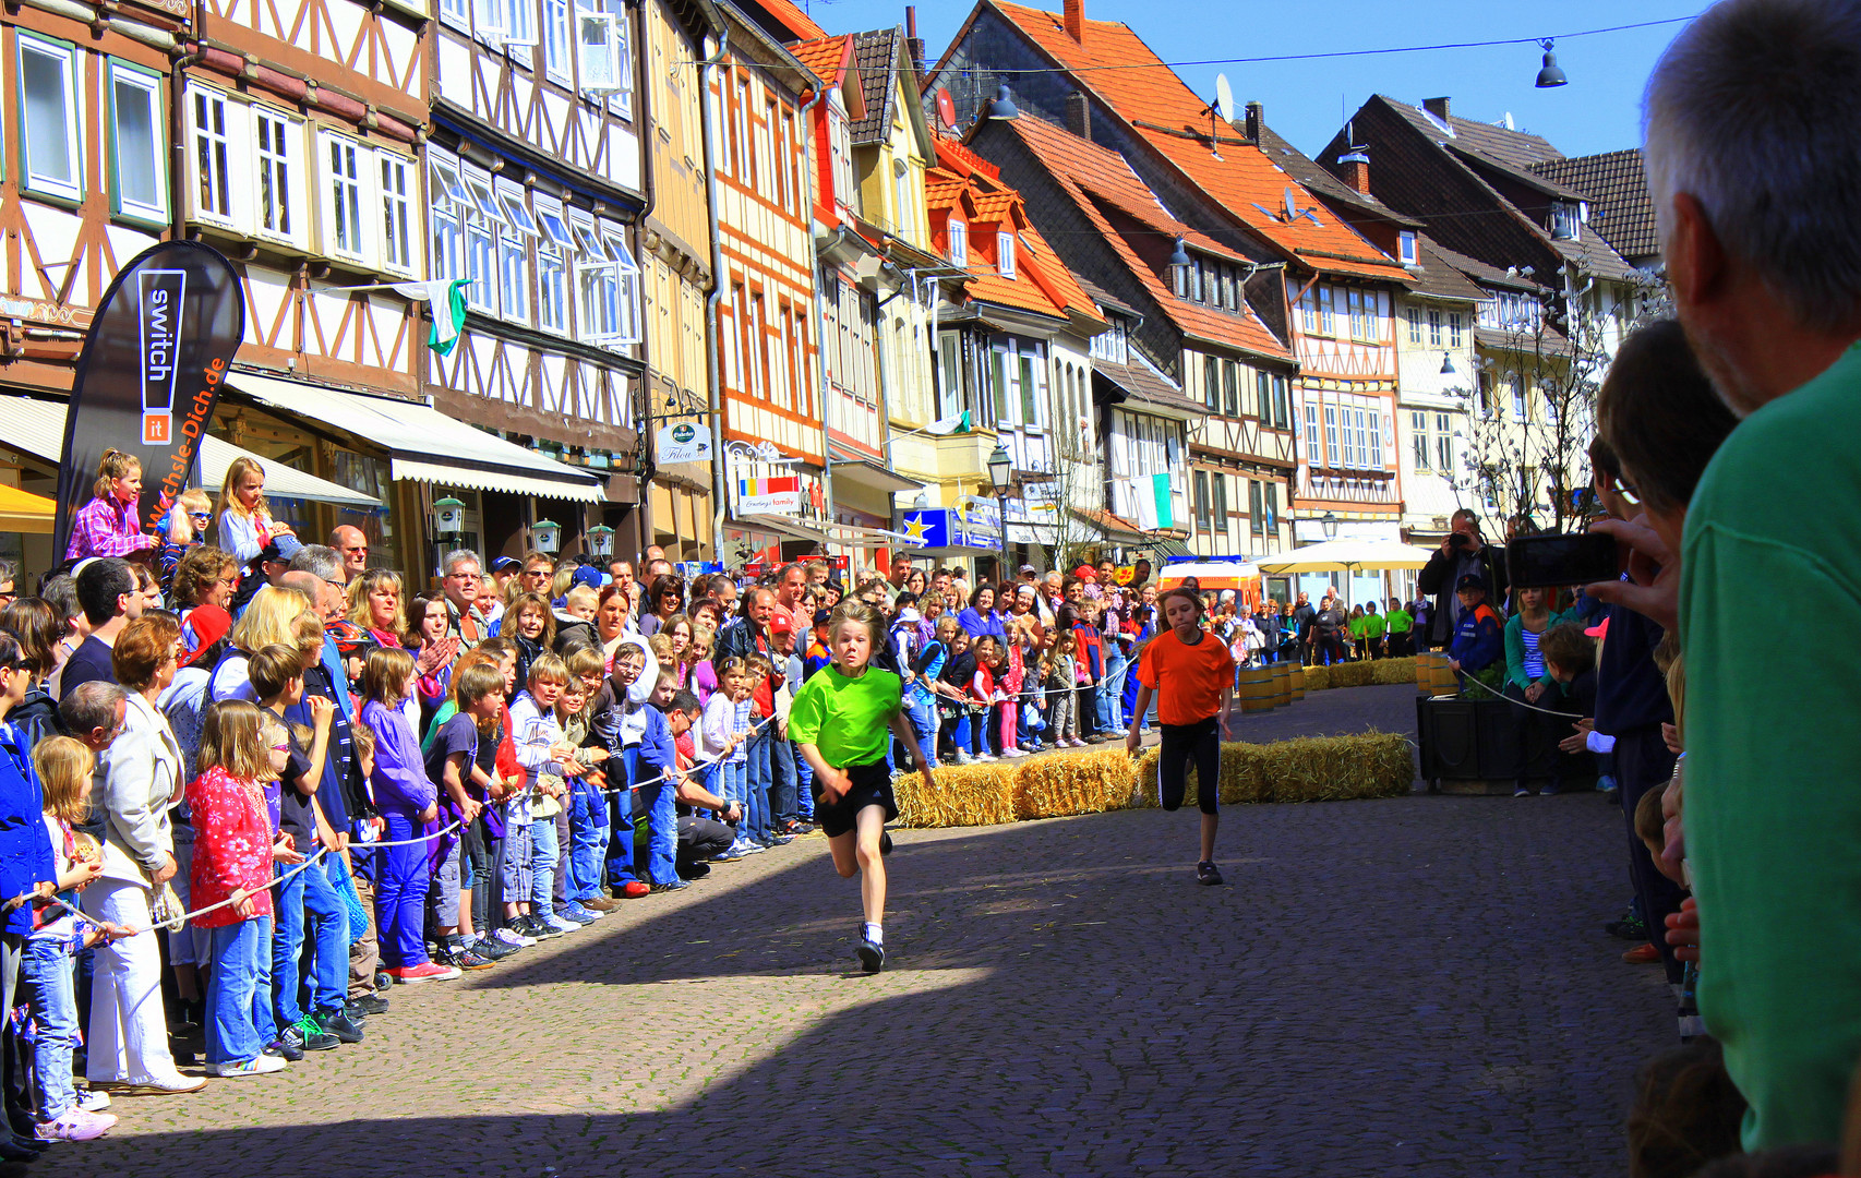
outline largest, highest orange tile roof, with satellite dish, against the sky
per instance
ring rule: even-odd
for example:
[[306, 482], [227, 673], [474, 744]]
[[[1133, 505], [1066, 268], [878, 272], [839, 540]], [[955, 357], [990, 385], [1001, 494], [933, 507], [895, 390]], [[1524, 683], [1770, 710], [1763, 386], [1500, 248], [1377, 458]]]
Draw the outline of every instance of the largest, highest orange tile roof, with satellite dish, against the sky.
[[[1286, 257], [1325, 274], [1403, 283], [1394, 261], [1323, 210], [1318, 221], [1284, 218], [1293, 207], [1323, 208], [1299, 181], [1232, 127], [1210, 149], [1208, 99], [1197, 97], [1143, 39], [1120, 20], [1087, 20], [1085, 45], [1066, 35], [1059, 13], [984, 0], [1020, 28], [1055, 63], [1078, 71], [1074, 82], [1115, 110], [1131, 130], [1169, 158], [1213, 203], [1225, 207]], [[1111, 69], [1107, 69], [1111, 67]], [[1280, 210], [1280, 212], [1273, 212]]]

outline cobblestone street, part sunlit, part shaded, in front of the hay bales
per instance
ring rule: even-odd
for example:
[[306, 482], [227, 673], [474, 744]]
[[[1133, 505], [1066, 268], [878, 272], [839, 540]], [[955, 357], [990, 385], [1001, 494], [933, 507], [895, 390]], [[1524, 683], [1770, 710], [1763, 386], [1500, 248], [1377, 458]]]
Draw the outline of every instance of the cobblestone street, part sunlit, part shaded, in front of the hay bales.
[[[1658, 970], [1595, 795], [903, 832], [850, 973], [819, 837], [458, 983], [368, 1042], [125, 1098], [45, 1174], [1619, 1174]], [[553, 1167], [553, 1169], [545, 1169]]]

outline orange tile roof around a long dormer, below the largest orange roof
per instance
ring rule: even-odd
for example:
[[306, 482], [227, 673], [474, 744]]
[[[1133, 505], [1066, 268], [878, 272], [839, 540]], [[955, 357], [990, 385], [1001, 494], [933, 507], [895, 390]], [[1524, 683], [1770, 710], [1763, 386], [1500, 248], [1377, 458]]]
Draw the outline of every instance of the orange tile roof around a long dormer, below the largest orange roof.
[[1118, 261], [1145, 285], [1150, 298], [1163, 307], [1163, 313], [1169, 315], [1178, 331], [1200, 341], [1275, 359], [1290, 357], [1286, 344], [1260, 322], [1252, 309], [1234, 315], [1176, 298], [1176, 292], [1158, 277], [1148, 262], [1137, 257], [1137, 251], [1131, 249], [1124, 234], [1111, 225], [1104, 205], [1143, 221], [1161, 234], [1180, 236], [1185, 244], [1200, 251], [1241, 264], [1247, 264], [1249, 259], [1172, 218], [1117, 153], [1105, 151], [1098, 143], [1081, 140], [1070, 130], [1027, 112], [1009, 121], [1007, 127], [1014, 130], [1016, 138], [1040, 160], [1048, 175], [1072, 197], [1079, 212], [1092, 221], [1092, 227], [1118, 255]]

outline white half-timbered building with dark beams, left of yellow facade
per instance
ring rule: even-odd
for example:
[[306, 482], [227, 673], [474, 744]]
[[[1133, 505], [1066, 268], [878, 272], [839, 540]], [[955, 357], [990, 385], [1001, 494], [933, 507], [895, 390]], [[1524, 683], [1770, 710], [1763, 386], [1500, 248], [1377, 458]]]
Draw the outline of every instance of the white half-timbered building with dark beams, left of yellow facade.
[[[622, 0], [434, 0], [424, 149], [432, 277], [463, 281], [456, 344], [426, 368], [434, 404], [530, 439], [596, 478], [575, 495], [488, 478], [454, 491], [488, 555], [564, 553], [586, 527], [638, 551], [644, 207], [638, 7]], [[467, 495], [465, 491], [471, 491]], [[588, 510], [582, 510], [582, 504]]]

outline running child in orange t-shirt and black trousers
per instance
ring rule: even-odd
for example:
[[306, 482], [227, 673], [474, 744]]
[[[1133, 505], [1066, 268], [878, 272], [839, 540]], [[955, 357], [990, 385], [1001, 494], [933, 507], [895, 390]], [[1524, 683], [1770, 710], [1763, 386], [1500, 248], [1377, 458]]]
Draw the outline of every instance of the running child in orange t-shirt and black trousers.
[[1234, 709], [1234, 655], [1226, 644], [1202, 629], [1202, 597], [1189, 588], [1163, 594], [1163, 622], [1169, 629], [1145, 646], [1137, 661], [1137, 703], [1124, 748], [1137, 756], [1137, 722], [1158, 696], [1163, 746], [1158, 759], [1158, 795], [1163, 810], [1178, 810], [1187, 789], [1189, 761], [1195, 759], [1195, 795], [1202, 806], [1202, 862], [1195, 865], [1198, 884], [1219, 884], [1215, 867], [1215, 795], [1221, 782], [1221, 733]]

